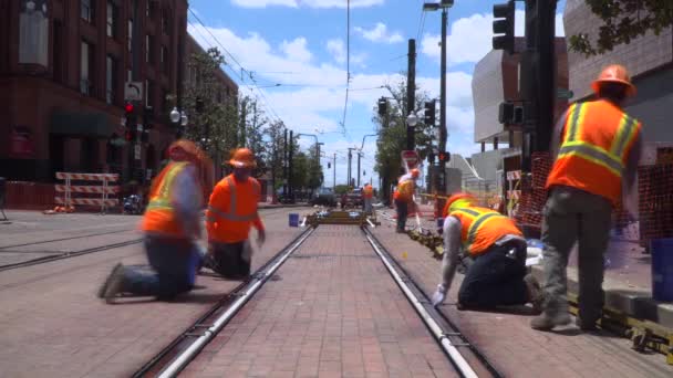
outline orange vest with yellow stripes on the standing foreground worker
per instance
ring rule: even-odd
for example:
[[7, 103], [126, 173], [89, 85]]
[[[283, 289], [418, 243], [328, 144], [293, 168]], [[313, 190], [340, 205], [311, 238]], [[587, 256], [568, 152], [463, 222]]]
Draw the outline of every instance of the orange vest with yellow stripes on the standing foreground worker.
[[641, 124], [607, 101], [572, 104], [546, 188], [568, 186], [618, 204], [622, 172]]

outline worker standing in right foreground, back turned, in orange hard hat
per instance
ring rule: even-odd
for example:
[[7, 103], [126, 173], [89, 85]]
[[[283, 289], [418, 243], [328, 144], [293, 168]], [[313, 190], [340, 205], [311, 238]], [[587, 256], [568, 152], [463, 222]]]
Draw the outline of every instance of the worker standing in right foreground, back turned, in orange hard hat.
[[580, 282], [577, 323], [582, 330], [596, 329], [602, 316], [603, 254], [612, 210], [622, 202], [633, 219], [638, 211], [633, 195], [641, 124], [622, 109], [624, 101], [635, 94], [635, 86], [627, 69], [611, 65], [591, 87], [597, 99], [572, 104], [552, 135], [556, 161], [547, 178], [549, 197], [542, 221], [547, 301], [545, 312], [530, 323], [536, 329], [570, 323], [566, 266], [576, 242]]

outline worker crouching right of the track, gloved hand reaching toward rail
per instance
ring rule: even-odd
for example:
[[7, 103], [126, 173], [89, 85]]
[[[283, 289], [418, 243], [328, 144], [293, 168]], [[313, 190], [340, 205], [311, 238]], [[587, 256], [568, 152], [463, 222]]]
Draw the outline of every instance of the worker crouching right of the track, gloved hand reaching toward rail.
[[444, 302], [463, 250], [473, 263], [458, 291], [459, 309], [532, 303], [539, 312], [542, 296], [535, 277], [526, 274], [524, 234], [508, 217], [476, 203], [467, 193], [453, 195], [446, 201], [442, 283], [432, 297], [433, 305]]

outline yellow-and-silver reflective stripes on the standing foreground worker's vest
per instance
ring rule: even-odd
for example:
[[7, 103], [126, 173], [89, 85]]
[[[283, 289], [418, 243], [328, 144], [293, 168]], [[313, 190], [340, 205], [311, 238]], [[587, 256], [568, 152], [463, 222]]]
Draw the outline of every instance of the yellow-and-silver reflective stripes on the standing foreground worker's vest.
[[570, 124], [559, 149], [558, 158], [577, 156], [600, 165], [621, 178], [624, 170], [624, 153], [629, 141], [633, 139], [638, 130], [638, 122], [624, 113], [610, 150], [605, 150], [602, 147], [581, 140], [580, 136], [582, 135], [587, 108], [587, 104], [572, 105], [569, 113]]

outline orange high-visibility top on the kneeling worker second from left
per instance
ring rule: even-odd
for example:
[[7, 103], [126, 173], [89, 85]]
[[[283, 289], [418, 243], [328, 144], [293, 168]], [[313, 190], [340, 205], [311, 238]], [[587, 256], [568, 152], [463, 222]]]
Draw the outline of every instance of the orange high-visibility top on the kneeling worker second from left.
[[245, 182], [238, 182], [234, 175], [229, 175], [219, 181], [213, 190], [206, 211], [209, 240], [238, 243], [248, 239], [253, 223], [261, 228], [257, 212], [260, 192], [259, 182], [251, 177]]

